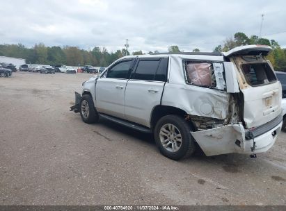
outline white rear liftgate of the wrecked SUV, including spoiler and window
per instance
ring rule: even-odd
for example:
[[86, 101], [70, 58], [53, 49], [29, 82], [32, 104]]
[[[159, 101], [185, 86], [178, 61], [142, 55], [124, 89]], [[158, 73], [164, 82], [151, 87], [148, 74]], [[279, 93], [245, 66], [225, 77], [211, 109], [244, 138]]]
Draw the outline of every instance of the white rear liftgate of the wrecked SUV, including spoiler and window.
[[250, 45], [224, 53], [237, 67], [246, 128], [266, 124], [281, 113], [281, 84], [265, 59], [270, 51], [268, 46]]

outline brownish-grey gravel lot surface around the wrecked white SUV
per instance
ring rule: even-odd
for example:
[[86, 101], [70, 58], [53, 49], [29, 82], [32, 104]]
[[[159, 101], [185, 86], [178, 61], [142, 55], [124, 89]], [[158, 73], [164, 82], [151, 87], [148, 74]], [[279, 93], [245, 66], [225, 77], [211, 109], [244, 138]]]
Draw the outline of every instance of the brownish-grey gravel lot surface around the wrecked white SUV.
[[150, 135], [69, 111], [90, 76], [0, 78], [0, 205], [286, 205], [286, 133], [256, 159], [169, 160]]

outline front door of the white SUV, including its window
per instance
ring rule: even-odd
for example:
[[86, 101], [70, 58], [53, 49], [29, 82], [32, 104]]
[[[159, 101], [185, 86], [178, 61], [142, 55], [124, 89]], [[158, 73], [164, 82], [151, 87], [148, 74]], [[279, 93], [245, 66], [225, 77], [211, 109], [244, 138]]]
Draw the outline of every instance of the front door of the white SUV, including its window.
[[97, 79], [96, 108], [99, 112], [125, 119], [125, 88], [134, 59], [120, 60]]

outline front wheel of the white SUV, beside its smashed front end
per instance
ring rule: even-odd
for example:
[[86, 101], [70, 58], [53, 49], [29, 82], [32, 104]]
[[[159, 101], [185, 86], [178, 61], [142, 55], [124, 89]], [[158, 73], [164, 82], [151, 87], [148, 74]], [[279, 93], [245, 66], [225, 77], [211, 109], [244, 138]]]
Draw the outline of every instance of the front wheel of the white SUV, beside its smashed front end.
[[93, 99], [89, 94], [85, 94], [81, 97], [80, 103], [81, 119], [85, 123], [95, 123], [99, 120], [97, 111], [95, 110], [95, 105], [93, 105]]

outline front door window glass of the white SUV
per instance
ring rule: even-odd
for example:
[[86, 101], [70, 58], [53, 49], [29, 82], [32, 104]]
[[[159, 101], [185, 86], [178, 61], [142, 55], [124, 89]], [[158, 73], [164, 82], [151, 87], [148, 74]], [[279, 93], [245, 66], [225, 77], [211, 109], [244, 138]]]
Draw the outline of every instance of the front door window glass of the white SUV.
[[118, 63], [107, 71], [106, 78], [127, 78], [131, 64], [132, 60]]

